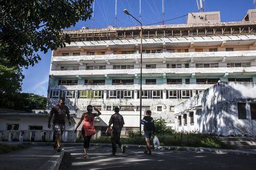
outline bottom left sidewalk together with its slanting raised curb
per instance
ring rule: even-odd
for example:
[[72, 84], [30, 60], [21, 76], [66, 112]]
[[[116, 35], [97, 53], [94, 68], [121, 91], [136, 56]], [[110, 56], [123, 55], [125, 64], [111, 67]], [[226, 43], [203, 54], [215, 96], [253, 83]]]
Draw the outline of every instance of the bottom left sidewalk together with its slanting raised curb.
[[0, 169], [58, 169], [64, 152], [51, 146], [32, 146], [0, 155]]

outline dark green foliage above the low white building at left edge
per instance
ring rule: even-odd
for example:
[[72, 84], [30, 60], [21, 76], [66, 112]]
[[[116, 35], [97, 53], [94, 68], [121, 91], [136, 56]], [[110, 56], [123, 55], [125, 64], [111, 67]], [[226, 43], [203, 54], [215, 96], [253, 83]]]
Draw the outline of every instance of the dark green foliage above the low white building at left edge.
[[46, 97], [29, 93], [1, 94], [0, 108], [30, 111], [46, 109]]

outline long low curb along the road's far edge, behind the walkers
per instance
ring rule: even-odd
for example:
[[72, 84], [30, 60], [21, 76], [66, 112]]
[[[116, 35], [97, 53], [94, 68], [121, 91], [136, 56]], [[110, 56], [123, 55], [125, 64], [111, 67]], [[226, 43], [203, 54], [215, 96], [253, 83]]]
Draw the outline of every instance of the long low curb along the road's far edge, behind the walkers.
[[[0, 144], [19, 145], [20, 142], [0, 142]], [[51, 145], [51, 142], [23, 142], [23, 145]], [[62, 143], [62, 146], [82, 146], [82, 143]], [[91, 147], [112, 147], [111, 144], [90, 144]], [[145, 148], [145, 145], [126, 145], [127, 148]], [[203, 147], [177, 147], [177, 146], [161, 146], [158, 150], [174, 150], [187, 152], [208, 152], [218, 154], [231, 155], [246, 155], [256, 156], [256, 151], [253, 150], [228, 150], [218, 148], [203, 148]]]

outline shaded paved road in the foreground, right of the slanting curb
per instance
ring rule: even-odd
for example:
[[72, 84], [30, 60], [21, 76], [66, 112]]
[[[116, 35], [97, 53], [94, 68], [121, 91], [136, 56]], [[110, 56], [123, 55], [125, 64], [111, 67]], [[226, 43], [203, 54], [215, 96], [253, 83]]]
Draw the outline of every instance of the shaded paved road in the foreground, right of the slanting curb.
[[127, 153], [112, 156], [111, 148], [91, 147], [90, 158], [83, 158], [81, 147], [66, 147], [59, 169], [256, 169], [256, 157], [157, 151], [145, 155], [142, 149], [127, 148]]

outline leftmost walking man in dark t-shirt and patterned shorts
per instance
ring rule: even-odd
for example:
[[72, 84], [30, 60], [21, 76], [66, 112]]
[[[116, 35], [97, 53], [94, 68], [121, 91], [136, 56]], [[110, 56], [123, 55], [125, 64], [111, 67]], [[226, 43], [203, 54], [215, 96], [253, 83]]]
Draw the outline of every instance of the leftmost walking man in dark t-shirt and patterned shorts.
[[69, 120], [69, 126], [71, 125], [69, 108], [65, 105], [65, 99], [59, 99], [59, 104], [55, 105], [50, 112], [48, 127], [51, 129], [51, 118], [53, 119], [53, 132], [54, 132], [54, 150], [61, 152], [61, 136], [65, 129], [65, 116]]

